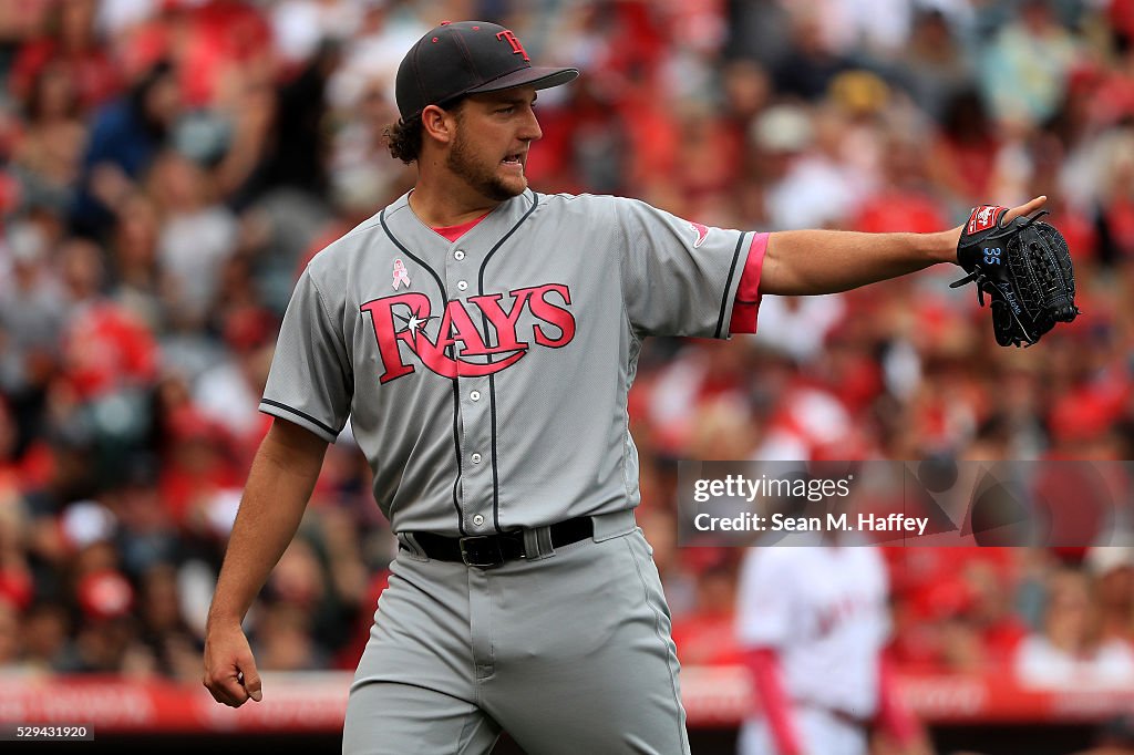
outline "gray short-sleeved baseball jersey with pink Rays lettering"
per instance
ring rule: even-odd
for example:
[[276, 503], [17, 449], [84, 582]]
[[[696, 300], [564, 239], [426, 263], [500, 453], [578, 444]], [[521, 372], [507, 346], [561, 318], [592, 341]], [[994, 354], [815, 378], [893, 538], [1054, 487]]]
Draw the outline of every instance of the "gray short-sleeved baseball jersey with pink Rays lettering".
[[407, 194], [308, 264], [260, 408], [328, 441], [349, 416], [395, 532], [632, 508], [642, 340], [727, 337], [762, 238], [527, 190], [450, 243]]

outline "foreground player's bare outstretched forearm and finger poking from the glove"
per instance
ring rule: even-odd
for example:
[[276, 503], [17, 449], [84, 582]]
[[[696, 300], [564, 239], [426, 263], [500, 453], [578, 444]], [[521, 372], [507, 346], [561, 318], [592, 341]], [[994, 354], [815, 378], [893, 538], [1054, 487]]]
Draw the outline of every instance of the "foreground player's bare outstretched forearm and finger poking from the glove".
[[[1047, 202], [1038, 196], [1013, 207], [1005, 223]], [[776, 231], [768, 237], [761, 294], [835, 294], [957, 262], [962, 227], [936, 234], [862, 234], [838, 230]]]

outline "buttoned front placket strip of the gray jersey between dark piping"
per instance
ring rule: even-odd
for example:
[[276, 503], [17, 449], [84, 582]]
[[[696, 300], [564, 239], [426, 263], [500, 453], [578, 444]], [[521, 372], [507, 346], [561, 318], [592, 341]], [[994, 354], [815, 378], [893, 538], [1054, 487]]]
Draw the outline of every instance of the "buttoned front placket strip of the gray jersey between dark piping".
[[[467, 235], [466, 235], [467, 236]], [[458, 300], [468, 313], [473, 325], [481, 331], [486, 345], [492, 338], [484, 332], [484, 323], [477, 308], [469, 305], [469, 297], [479, 290], [479, 272], [483, 253], [462, 237], [449, 245], [446, 254], [445, 278], [450, 297]], [[440, 337], [440, 336], [439, 336]], [[484, 535], [496, 532], [493, 516], [493, 475], [492, 475], [492, 433], [493, 406], [490, 376], [463, 374], [462, 365], [467, 362], [480, 363], [483, 356], [473, 357], [467, 354], [468, 343], [460, 340], [454, 346], [452, 355], [457, 362], [457, 407], [460, 413], [460, 476], [459, 486], [460, 511], [464, 519], [464, 531], [469, 535]]]

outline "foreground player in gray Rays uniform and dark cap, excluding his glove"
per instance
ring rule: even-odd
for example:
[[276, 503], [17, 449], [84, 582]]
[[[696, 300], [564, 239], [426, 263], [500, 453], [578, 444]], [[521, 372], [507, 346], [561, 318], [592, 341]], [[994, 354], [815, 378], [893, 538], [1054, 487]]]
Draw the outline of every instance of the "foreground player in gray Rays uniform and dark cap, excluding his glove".
[[626, 399], [643, 339], [752, 332], [761, 292], [956, 262], [959, 229], [768, 235], [541, 194], [524, 176], [533, 105], [577, 75], [533, 67], [486, 22], [442, 24], [405, 56], [390, 149], [417, 180], [296, 286], [260, 404], [276, 419], [210, 611], [219, 702], [262, 697], [240, 622], [349, 416], [400, 550], [345, 753], [486, 753], [501, 729], [533, 755], [688, 752], [633, 512]]

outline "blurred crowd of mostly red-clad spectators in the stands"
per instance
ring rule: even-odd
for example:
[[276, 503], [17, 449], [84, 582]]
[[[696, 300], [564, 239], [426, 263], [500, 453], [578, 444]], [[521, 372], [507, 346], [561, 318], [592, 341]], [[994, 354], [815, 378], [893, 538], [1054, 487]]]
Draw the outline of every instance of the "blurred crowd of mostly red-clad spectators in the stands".
[[[739, 553], [676, 548], [679, 459], [1134, 458], [1132, 0], [3, 2], [0, 673], [200, 678], [291, 287], [412, 186], [393, 71], [476, 17], [583, 70], [541, 93], [541, 192], [869, 231], [1046, 194], [1072, 248], [1083, 314], [1034, 349], [955, 269], [648, 346], [640, 521], [684, 662], [735, 660]], [[353, 669], [395, 546], [347, 433], [249, 616], [260, 668]], [[1134, 681], [1127, 550], [887, 558], [906, 668]]]

